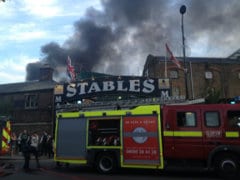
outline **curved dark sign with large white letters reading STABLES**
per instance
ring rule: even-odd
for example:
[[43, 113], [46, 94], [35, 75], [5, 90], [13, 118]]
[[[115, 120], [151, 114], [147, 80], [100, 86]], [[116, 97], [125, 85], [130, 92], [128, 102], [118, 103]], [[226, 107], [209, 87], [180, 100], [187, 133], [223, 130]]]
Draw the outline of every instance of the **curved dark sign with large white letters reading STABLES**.
[[169, 81], [144, 77], [108, 77], [60, 84], [55, 87], [55, 103], [107, 95], [159, 97], [170, 95]]

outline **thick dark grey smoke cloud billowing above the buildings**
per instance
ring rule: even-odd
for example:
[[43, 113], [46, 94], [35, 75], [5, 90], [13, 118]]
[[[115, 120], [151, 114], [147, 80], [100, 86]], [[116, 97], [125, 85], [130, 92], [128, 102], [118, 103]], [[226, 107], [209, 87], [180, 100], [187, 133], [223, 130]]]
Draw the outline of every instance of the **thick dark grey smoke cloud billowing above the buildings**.
[[[149, 54], [165, 55], [165, 43], [182, 56], [183, 4], [187, 56], [227, 57], [239, 48], [239, 0], [102, 0], [103, 9], [89, 8], [63, 45], [42, 46], [42, 62], [55, 77], [68, 55], [77, 72], [140, 75]], [[28, 67], [28, 80], [36, 66]]]

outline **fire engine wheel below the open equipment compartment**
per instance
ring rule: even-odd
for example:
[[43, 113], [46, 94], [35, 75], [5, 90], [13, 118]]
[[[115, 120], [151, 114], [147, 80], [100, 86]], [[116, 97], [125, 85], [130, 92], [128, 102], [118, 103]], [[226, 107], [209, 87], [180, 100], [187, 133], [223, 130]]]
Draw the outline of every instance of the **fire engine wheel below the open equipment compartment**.
[[115, 171], [116, 162], [112, 154], [101, 153], [97, 157], [96, 168], [101, 174], [109, 174]]

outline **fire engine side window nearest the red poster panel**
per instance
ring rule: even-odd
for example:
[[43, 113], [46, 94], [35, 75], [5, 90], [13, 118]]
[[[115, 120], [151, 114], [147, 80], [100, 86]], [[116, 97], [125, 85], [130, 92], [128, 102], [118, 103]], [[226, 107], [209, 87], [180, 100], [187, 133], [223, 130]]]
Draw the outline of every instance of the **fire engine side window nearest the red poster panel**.
[[178, 127], [196, 127], [197, 118], [194, 112], [178, 112], [177, 113]]

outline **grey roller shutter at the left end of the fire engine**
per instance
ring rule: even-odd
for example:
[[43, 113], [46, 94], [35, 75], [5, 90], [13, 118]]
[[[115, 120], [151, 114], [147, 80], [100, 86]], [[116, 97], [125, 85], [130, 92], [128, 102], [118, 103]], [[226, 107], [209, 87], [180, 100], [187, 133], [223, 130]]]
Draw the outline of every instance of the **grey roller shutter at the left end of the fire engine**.
[[86, 118], [59, 118], [56, 156], [58, 158], [86, 158]]

